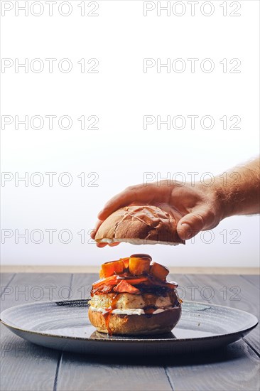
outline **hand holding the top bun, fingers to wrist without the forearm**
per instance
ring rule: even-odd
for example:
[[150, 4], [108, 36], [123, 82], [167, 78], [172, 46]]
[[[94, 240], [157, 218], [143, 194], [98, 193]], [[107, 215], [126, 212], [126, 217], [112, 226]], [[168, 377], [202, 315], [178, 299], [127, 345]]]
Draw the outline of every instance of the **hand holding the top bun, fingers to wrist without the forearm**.
[[[129, 205], [154, 205], [166, 210], [178, 222], [177, 232], [183, 240], [190, 239], [201, 230], [216, 227], [223, 218], [217, 193], [212, 186], [202, 186], [201, 183], [183, 186], [182, 183], [169, 184], [168, 181], [140, 184], [129, 186], [104, 205], [97, 216], [98, 220], [91, 234], [92, 239], [109, 215]], [[109, 246], [118, 244], [112, 243]], [[97, 244], [98, 247], [106, 245], [107, 243]]]

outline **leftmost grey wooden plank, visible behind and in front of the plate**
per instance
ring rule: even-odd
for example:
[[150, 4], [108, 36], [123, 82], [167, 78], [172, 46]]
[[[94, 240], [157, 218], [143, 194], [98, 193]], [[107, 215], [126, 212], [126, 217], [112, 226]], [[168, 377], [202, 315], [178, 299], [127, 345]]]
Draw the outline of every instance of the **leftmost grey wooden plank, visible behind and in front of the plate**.
[[[1, 310], [36, 300], [65, 299], [68, 289], [61, 288], [69, 286], [70, 279], [70, 274], [16, 274], [1, 298]], [[1, 325], [1, 390], [53, 390], [59, 359], [58, 350], [28, 343]]]

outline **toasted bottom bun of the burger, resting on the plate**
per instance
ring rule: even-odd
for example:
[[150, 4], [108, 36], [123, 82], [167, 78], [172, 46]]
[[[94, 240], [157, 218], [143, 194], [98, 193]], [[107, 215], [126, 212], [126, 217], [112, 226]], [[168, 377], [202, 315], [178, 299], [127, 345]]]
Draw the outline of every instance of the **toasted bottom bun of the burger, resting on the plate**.
[[180, 320], [181, 306], [160, 312], [156, 315], [119, 315], [100, 311], [88, 312], [90, 322], [100, 333], [151, 335], [169, 333]]

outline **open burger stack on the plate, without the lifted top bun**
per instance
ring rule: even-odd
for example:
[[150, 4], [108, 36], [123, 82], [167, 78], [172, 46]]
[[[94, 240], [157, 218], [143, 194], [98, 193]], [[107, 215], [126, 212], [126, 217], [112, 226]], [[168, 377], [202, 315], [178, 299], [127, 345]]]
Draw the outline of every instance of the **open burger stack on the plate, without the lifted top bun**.
[[180, 319], [181, 300], [168, 273], [146, 254], [105, 262], [92, 284], [90, 322], [110, 336], [170, 332]]

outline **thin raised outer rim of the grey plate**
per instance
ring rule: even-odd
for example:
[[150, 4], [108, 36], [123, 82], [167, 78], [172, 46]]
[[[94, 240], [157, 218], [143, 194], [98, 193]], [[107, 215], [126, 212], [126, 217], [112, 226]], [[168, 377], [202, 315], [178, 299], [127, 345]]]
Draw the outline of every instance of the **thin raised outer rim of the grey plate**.
[[[102, 339], [102, 338], [84, 338], [84, 337], [75, 337], [75, 336], [59, 336], [57, 334], [48, 334], [48, 333], [44, 333], [44, 332], [41, 332], [39, 333], [38, 331], [31, 331], [31, 330], [26, 330], [24, 328], [21, 328], [21, 327], [18, 327], [18, 326], [12, 326], [10, 325], [9, 323], [6, 323], [6, 321], [4, 321], [2, 319], [2, 316], [4, 315], [4, 312], [8, 311], [9, 309], [16, 309], [16, 308], [21, 308], [21, 307], [27, 307], [27, 306], [33, 306], [33, 305], [37, 305], [37, 304], [54, 304], [54, 303], [57, 303], [57, 302], [66, 302], [66, 301], [69, 301], [69, 302], [82, 302], [82, 301], [85, 301], [85, 300], [89, 300], [89, 299], [65, 299], [65, 300], [50, 300], [50, 301], [39, 301], [38, 303], [26, 303], [26, 304], [18, 304], [18, 306], [11, 306], [7, 309], [5, 309], [4, 311], [1, 311], [1, 314], [0, 314], [0, 322], [4, 324], [4, 326], [6, 326], [7, 328], [12, 328], [13, 330], [17, 330], [17, 331], [22, 331], [23, 333], [30, 333], [30, 334], [33, 334], [33, 335], [37, 335], [37, 336], [44, 336], [44, 337], [52, 337], [52, 338], [62, 338], [62, 339], [69, 339], [69, 340], [76, 340], [76, 341], [87, 341], [87, 342], [91, 342], [91, 341], [94, 341], [94, 342], [99, 342], [99, 343], [137, 343], [137, 342], [142, 342], [142, 343], [178, 343], [178, 342], [183, 342], [183, 341], [207, 341], [207, 339], [217, 339], [217, 338], [224, 338], [224, 337], [232, 337], [232, 336], [237, 336], [239, 335], [240, 333], [249, 333], [249, 331], [253, 330], [253, 328], [255, 328], [258, 324], [259, 324], [259, 320], [258, 318], [256, 318], [256, 316], [254, 314], [250, 314], [250, 312], [247, 312], [247, 311], [244, 311], [242, 309], [234, 309], [233, 307], [229, 307], [229, 306], [222, 306], [220, 304], [209, 304], [210, 306], [214, 306], [214, 307], [221, 307], [221, 308], [225, 308], [225, 309], [230, 309], [231, 311], [235, 311], [235, 312], [241, 312], [241, 313], [244, 313], [244, 314], [247, 314], [249, 316], [252, 317], [252, 321], [254, 320], [254, 325], [253, 326], [250, 326], [249, 328], [245, 328], [244, 330], [240, 330], [240, 331], [234, 331], [233, 333], [225, 333], [225, 334], [220, 334], [220, 335], [217, 335], [217, 336], [204, 336], [204, 337], [197, 337], [197, 338], [173, 338], [173, 339], [168, 339], [168, 338], [146, 338], [146, 339], [140, 339], [140, 338], [133, 338], [133, 339], [112, 339], [112, 338], [108, 338], [108, 339]], [[184, 303], [188, 303], [188, 304], [200, 304], [202, 306], [206, 306], [207, 304], [205, 303], [202, 303], [201, 301], [191, 301], [191, 300], [185, 300], [183, 301]]]

